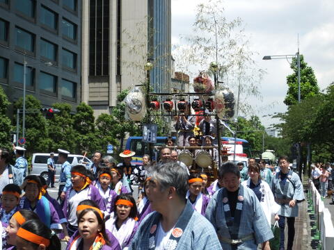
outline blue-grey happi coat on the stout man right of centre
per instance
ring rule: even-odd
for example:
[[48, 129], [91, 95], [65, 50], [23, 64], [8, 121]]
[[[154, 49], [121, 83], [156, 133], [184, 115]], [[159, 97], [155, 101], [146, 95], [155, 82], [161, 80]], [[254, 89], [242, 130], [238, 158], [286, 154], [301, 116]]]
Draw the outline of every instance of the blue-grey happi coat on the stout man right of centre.
[[[230, 210], [230, 207], [228, 200], [223, 197], [223, 190], [225, 190], [225, 188], [221, 188], [214, 194], [209, 202], [209, 206], [207, 206], [205, 217], [209, 219], [216, 229], [218, 238], [223, 236], [224, 238], [231, 239], [230, 228], [227, 226], [226, 222], [228, 218], [225, 218], [225, 210]], [[241, 196], [241, 194], [243, 195]], [[235, 230], [237, 231], [237, 238], [241, 239], [250, 234], [253, 234], [254, 238], [253, 240], [246, 240], [241, 244], [238, 244], [237, 249], [256, 250], [257, 244], [266, 242], [267, 240], [273, 238], [273, 233], [271, 232], [267, 218], [264, 215], [260, 202], [258, 201], [253, 190], [244, 188], [240, 185], [238, 197], [241, 197], [243, 203], [241, 206], [238, 206], [237, 203], [235, 212], [237, 213], [238, 209], [241, 210], [239, 230]], [[239, 201], [241, 199], [239, 199]], [[225, 205], [223, 201], [225, 201]], [[234, 219], [236, 219], [236, 215], [234, 215]], [[232, 249], [230, 244], [225, 243], [222, 240], [221, 247], [223, 247], [224, 250]]]

